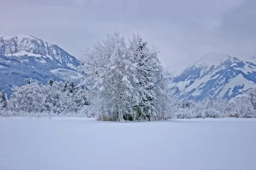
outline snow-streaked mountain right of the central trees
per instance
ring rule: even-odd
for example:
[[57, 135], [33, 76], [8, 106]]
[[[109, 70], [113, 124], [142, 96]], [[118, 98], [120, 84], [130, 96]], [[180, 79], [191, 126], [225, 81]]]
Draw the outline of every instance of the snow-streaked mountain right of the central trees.
[[256, 65], [226, 54], [209, 53], [172, 79], [178, 99], [231, 99], [256, 87]]

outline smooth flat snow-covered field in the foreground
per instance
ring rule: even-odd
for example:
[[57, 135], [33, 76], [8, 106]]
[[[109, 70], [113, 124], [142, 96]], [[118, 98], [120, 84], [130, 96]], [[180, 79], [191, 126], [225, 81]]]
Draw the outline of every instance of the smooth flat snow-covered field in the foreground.
[[256, 170], [256, 119], [0, 118], [0, 170]]

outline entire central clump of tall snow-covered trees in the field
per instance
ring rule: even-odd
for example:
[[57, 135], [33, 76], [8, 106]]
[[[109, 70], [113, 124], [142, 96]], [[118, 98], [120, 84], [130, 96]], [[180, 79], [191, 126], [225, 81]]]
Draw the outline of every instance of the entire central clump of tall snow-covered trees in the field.
[[129, 115], [137, 120], [157, 115], [156, 87], [163, 70], [157, 54], [140, 36], [126, 44], [117, 32], [84, 51], [79, 66], [82, 83], [89, 87], [88, 97], [100, 101], [102, 117], [105, 112], [119, 121]]

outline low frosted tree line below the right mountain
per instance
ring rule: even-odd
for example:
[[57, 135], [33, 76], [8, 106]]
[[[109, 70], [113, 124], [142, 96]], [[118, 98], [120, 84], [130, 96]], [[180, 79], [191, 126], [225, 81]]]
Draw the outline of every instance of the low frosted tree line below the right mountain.
[[204, 101], [182, 101], [172, 108], [173, 116], [178, 119], [192, 118], [255, 118], [256, 88], [250, 89], [247, 96], [232, 100], [213, 99], [209, 96]]

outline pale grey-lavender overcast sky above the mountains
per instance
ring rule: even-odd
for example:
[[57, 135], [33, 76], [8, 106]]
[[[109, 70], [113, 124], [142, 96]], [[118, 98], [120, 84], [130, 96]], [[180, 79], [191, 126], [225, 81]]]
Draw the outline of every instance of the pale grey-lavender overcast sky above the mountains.
[[175, 73], [209, 52], [256, 54], [256, 0], [0, 0], [0, 22], [74, 56], [114, 30], [141, 34]]

